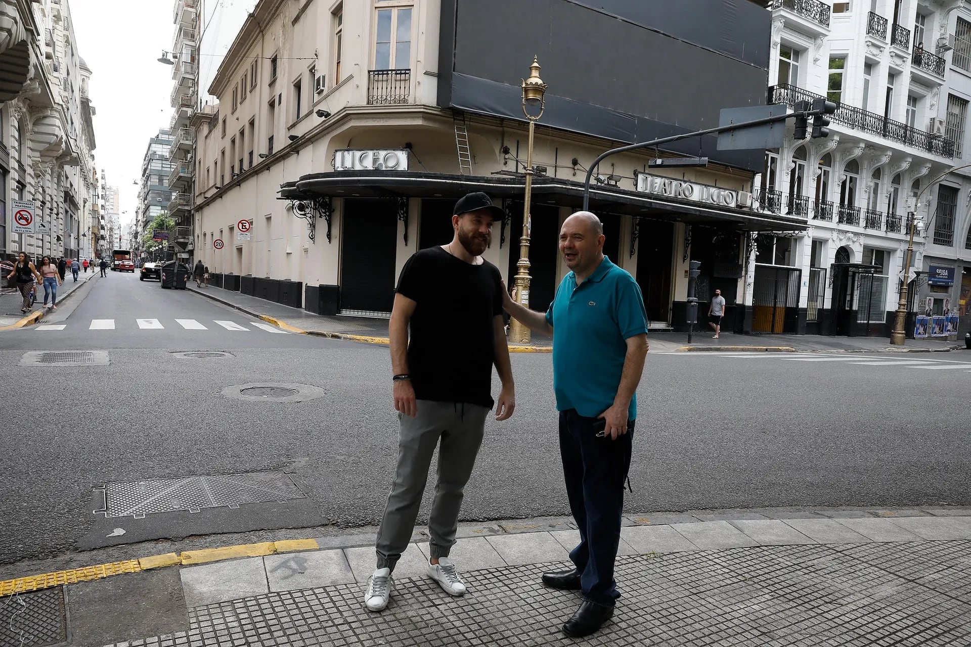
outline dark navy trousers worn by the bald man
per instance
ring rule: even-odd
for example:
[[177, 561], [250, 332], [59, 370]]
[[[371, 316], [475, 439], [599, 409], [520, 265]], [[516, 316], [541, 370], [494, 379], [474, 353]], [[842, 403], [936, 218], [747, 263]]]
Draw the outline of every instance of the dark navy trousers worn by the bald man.
[[614, 581], [614, 561], [620, 542], [623, 484], [630, 469], [634, 421], [617, 440], [597, 437], [576, 409], [559, 412], [559, 455], [570, 512], [580, 529], [580, 544], [570, 559], [581, 571], [584, 598], [614, 606], [620, 597]]

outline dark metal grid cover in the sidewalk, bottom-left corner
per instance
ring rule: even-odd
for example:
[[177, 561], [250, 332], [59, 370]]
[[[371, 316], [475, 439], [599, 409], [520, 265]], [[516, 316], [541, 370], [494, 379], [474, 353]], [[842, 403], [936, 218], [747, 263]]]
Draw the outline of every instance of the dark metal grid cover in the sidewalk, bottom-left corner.
[[0, 604], [0, 647], [67, 644], [64, 587], [15, 594]]

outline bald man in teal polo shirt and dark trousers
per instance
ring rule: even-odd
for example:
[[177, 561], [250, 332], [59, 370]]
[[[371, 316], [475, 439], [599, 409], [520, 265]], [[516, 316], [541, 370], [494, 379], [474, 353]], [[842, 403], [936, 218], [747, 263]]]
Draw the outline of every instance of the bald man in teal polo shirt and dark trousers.
[[[620, 594], [614, 562], [623, 483], [630, 469], [637, 384], [648, 353], [648, 321], [633, 277], [604, 256], [603, 224], [589, 211], [568, 217], [559, 251], [566, 267], [546, 314], [510, 298], [513, 318], [552, 335], [552, 385], [559, 411], [559, 453], [580, 544], [574, 567], [543, 574], [554, 589], [582, 590], [583, 603], [563, 625], [569, 636], [600, 629]], [[505, 292], [505, 291], [504, 291]]]

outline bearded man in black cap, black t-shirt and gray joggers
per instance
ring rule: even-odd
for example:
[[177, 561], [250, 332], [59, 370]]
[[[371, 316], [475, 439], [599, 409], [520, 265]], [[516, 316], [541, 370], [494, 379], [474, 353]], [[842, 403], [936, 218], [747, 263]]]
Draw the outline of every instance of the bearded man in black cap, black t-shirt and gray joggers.
[[[466, 585], [449, 559], [463, 489], [472, 474], [492, 407], [492, 366], [502, 389], [495, 419], [513, 415], [516, 394], [503, 330], [502, 275], [482, 254], [492, 222], [504, 217], [485, 193], [470, 193], [452, 215], [452, 242], [413, 254], [398, 278], [388, 337], [398, 465], [378, 531], [377, 568], [365, 606], [387, 606], [391, 573], [408, 547], [436, 445], [438, 482], [428, 520], [428, 575], [446, 593]], [[409, 326], [411, 338], [409, 339]]]

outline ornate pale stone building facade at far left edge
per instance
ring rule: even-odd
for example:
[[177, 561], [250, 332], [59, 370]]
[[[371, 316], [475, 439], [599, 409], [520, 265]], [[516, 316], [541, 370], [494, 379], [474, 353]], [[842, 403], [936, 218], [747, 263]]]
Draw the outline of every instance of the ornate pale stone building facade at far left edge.
[[[0, 2], [0, 254], [78, 258], [97, 236], [91, 71], [67, 0]], [[15, 234], [10, 201], [34, 203]]]

